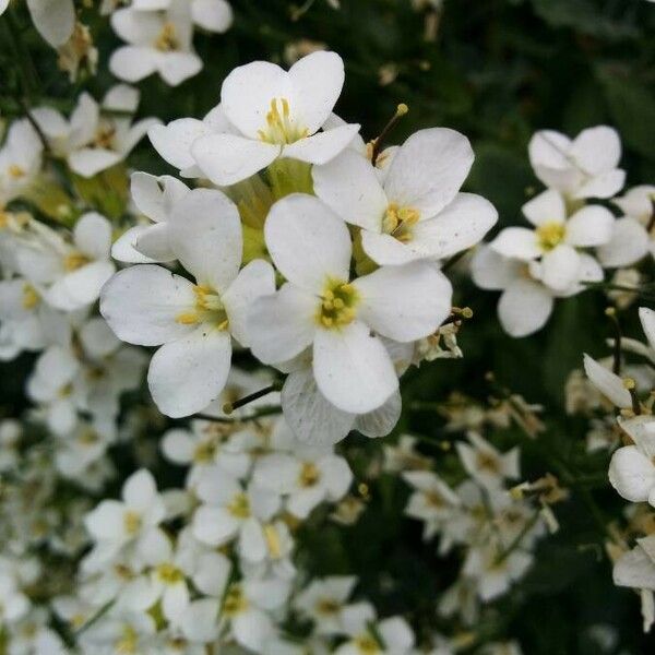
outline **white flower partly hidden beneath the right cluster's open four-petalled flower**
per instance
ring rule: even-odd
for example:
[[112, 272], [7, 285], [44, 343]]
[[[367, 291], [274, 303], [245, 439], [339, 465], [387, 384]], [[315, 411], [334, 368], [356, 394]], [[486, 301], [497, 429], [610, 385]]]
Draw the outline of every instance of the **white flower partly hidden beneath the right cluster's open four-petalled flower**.
[[504, 331], [514, 337], [527, 336], [540, 330], [552, 312], [555, 298], [583, 290], [582, 282], [599, 282], [603, 270], [586, 253], [580, 253], [579, 279], [561, 293], [553, 291], [531, 273], [526, 262], [500, 255], [489, 246], [475, 253], [471, 263], [473, 281], [483, 289], [502, 290], [498, 318]]

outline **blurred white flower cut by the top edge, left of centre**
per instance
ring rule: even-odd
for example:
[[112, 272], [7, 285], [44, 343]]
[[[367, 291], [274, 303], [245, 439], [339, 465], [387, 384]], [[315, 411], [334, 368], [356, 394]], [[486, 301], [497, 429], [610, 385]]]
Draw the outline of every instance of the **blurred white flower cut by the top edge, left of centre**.
[[139, 82], [153, 73], [177, 86], [202, 69], [193, 50], [191, 3], [170, 0], [164, 11], [139, 11], [134, 7], [111, 14], [111, 26], [128, 45], [115, 50], [109, 70], [126, 82]]

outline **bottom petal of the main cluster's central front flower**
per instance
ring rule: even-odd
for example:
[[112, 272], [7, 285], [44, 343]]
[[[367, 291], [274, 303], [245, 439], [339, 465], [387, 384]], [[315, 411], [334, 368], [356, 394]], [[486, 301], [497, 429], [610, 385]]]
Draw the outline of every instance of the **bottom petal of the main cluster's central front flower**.
[[383, 344], [359, 321], [340, 330], [317, 331], [313, 372], [321, 393], [353, 414], [376, 409], [398, 385]]

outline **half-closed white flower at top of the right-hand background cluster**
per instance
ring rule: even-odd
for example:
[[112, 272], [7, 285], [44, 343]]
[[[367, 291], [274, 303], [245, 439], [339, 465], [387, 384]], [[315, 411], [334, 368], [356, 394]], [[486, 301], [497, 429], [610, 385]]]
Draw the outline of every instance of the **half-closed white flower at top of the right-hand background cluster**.
[[552, 130], [537, 132], [528, 152], [535, 175], [571, 198], [611, 198], [626, 181], [626, 171], [617, 168], [619, 135], [606, 126], [583, 130], [573, 141]]

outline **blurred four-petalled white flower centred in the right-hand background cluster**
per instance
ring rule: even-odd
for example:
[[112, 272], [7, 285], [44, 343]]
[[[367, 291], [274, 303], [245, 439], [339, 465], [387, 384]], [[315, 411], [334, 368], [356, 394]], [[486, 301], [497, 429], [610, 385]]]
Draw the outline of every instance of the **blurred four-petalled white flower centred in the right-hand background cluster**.
[[503, 257], [523, 262], [539, 260], [533, 275], [556, 293], [580, 279], [584, 262], [579, 248], [603, 246], [612, 235], [615, 218], [600, 205], [587, 205], [567, 217], [564, 199], [547, 190], [523, 205], [534, 229], [507, 227], [491, 241]]

